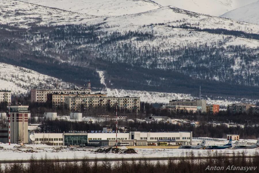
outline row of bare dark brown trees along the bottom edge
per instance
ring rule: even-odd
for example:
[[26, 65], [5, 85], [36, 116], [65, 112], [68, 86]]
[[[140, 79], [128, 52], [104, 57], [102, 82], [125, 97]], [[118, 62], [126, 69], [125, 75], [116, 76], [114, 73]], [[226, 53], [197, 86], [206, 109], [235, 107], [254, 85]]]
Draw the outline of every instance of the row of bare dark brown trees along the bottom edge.
[[[149, 161], [148, 158], [142, 158], [140, 161], [125, 161], [123, 157], [120, 161], [109, 161], [106, 157], [104, 161], [90, 162], [84, 158], [80, 162], [61, 162], [59, 159], [49, 159], [42, 157], [37, 160], [33, 155], [28, 164], [14, 163], [2, 165], [0, 173], [203, 173], [203, 172], [219, 172], [214, 170], [220, 168], [221, 173], [224, 172], [246, 172], [248, 168], [252, 168], [247, 172], [258, 172], [259, 155], [254, 153], [252, 157], [248, 157], [243, 153], [232, 153], [226, 155], [221, 152], [208, 151], [206, 157], [194, 155], [194, 153], [182, 153], [182, 156], [169, 158], [167, 161]], [[215, 167], [216, 166], [216, 167]], [[208, 170], [209, 169], [209, 170]]]

